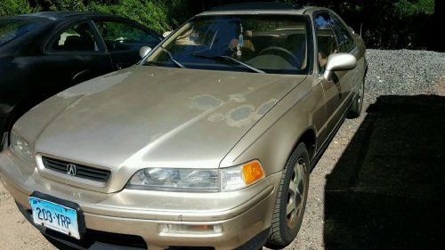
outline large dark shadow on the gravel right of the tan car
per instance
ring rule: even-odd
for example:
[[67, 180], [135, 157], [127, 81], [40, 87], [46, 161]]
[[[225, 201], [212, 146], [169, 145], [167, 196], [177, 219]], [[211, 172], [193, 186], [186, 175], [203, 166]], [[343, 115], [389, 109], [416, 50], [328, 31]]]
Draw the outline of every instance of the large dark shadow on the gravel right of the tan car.
[[378, 97], [325, 188], [326, 249], [443, 249], [445, 97]]

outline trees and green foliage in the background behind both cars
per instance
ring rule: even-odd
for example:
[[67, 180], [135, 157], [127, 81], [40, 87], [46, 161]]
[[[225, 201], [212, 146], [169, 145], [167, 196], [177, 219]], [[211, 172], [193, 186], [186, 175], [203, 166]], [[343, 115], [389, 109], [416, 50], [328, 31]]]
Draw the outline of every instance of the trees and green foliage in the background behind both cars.
[[[333, 9], [357, 31], [368, 47], [423, 48], [445, 0], [256, 0], [319, 5]], [[177, 28], [194, 14], [216, 5], [246, 0], [0, 0], [0, 16], [41, 11], [93, 11], [136, 20], [159, 33]], [[435, 19], [434, 19], [435, 18]], [[441, 19], [440, 19], [441, 20]], [[441, 48], [443, 44], [441, 44]]]

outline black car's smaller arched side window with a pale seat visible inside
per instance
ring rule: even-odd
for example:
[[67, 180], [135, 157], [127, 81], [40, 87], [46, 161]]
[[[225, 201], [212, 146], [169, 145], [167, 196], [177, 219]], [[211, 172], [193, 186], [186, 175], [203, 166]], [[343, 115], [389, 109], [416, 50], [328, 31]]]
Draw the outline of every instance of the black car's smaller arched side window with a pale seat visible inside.
[[78, 23], [61, 32], [51, 44], [55, 52], [98, 52], [96, 38], [88, 22]]

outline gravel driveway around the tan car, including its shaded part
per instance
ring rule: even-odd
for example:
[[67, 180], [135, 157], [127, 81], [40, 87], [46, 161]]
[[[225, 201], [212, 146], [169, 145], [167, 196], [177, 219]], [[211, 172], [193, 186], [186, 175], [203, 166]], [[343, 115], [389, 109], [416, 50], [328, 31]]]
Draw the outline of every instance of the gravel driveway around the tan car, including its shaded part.
[[[286, 249], [442, 249], [445, 53], [368, 50], [366, 112], [346, 120], [312, 171]], [[55, 249], [0, 184], [0, 249]]]

